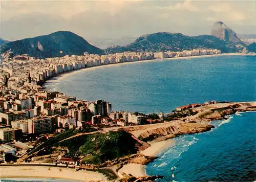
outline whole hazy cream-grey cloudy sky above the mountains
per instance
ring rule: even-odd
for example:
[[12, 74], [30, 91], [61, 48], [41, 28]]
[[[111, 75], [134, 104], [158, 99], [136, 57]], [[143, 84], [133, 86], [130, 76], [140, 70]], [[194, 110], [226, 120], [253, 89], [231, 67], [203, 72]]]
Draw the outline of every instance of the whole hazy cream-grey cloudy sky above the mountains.
[[59, 30], [72, 31], [87, 40], [163, 31], [200, 35], [209, 34], [217, 20], [237, 33], [256, 34], [255, 0], [0, 1], [0, 37], [7, 40]]

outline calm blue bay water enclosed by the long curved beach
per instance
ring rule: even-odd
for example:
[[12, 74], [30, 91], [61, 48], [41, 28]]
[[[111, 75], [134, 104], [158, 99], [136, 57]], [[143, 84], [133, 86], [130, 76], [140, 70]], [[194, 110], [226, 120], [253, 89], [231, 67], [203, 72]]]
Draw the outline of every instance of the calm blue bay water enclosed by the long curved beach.
[[256, 56], [219, 56], [116, 64], [78, 72], [47, 88], [114, 110], [169, 112], [189, 103], [256, 100]]

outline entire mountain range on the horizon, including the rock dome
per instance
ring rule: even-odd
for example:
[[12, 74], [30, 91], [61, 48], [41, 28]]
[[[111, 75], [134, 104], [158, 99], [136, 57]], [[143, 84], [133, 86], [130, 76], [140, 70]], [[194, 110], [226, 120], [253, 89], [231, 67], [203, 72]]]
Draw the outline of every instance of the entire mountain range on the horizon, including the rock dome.
[[[28, 54], [36, 58], [62, 57], [65, 55], [111, 54], [126, 51], [164, 52], [193, 49], [218, 49], [222, 53], [242, 52], [246, 44], [222, 21], [214, 23], [212, 35], [188, 36], [182, 33], [157, 32], [144, 34], [126, 45], [112, 45], [104, 50], [70, 31], [25, 38], [0, 45], [0, 53], [11, 50], [14, 55]], [[253, 50], [253, 45], [249, 49]]]

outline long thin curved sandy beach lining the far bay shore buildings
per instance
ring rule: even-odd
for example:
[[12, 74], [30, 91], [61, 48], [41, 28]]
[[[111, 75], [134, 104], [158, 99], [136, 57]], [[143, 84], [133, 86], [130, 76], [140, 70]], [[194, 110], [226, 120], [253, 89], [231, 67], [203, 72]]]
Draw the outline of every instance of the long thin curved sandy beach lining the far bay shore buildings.
[[119, 66], [119, 65], [123, 65], [123, 64], [133, 64], [133, 63], [138, 63], [138, 62], [150, 62], [150, 61], [163, 61], [163, 60], [172, 61], [172, 60], [185, 60], [185, 59], [216, 57], [216, 56], [246, 56], [246, 55], [247, 54], [242, 54], [242, 53], [224, 53], [224, 54], [203, 55], [203, 56], [173, 57], [173, 58], [164, 58], [164, 59], [140, 60], [140, 61], [133, 61], [133, 62], [120, 62], [120, 63], [115, 63], [115, 64], [87, 67], [87, 68], [75, 70], [72, 72], [62, 73], [62, 74], [59, 74], [59, 75], [53, 77], [52, 79], [46, 81], [46, 84], [50, 84], [51, 82], [56, 82], [58, 80], [65, 79], [65, 78], [67, 78], [73, 74], [76, 74], [76, 73], [80, 73], [80, 72], [84, 72], [84, 71], [92, 71], [95, 69], [103, 69], [104, 67], [109, 67], [109, 66]]

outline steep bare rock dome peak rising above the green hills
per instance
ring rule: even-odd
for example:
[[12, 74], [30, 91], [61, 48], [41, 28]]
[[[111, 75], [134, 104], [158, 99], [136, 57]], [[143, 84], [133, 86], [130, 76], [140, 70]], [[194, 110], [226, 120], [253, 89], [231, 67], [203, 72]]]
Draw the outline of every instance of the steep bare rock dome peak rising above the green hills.
[[222, 21], [217, 21], [214, 23], [211, 29], [211, 35], [220, 38], [229, 43], [243, 42], [238, 38], [237, 34], [227, 27]]

